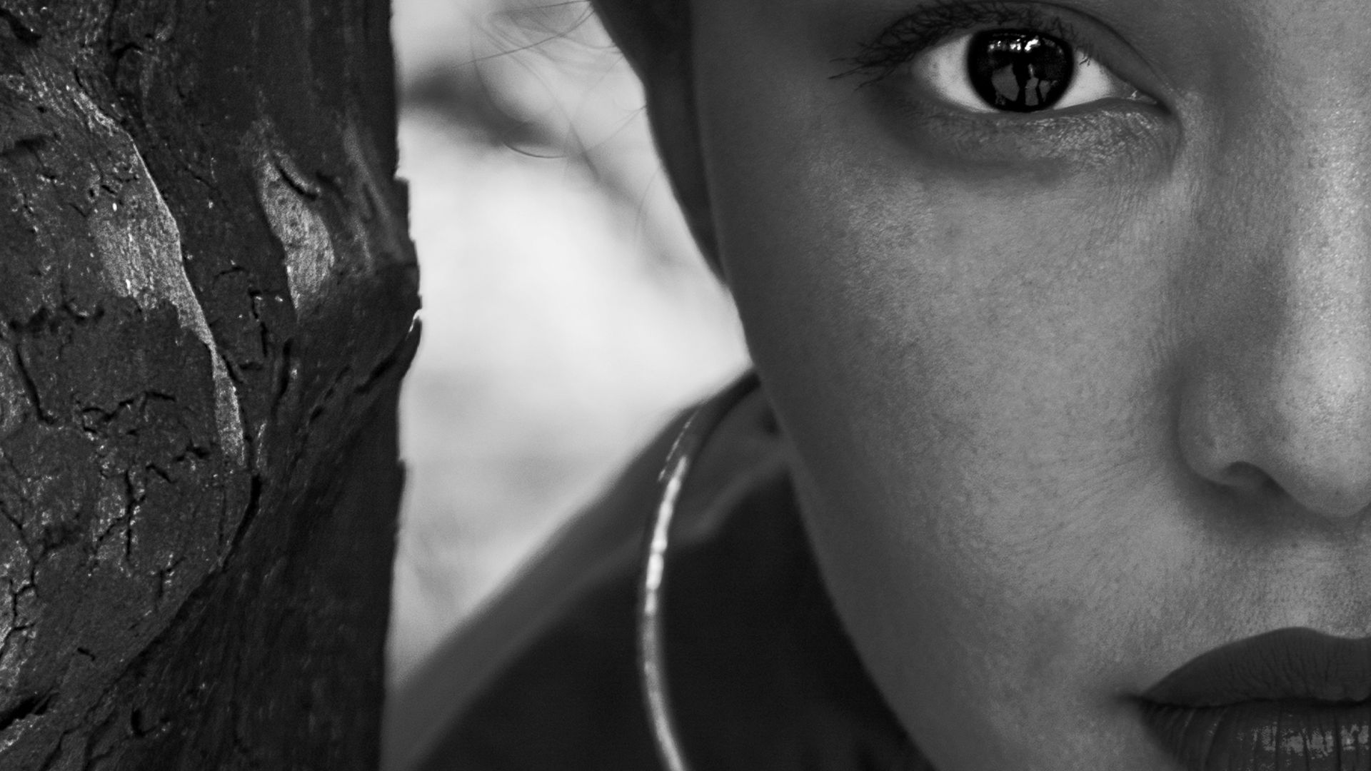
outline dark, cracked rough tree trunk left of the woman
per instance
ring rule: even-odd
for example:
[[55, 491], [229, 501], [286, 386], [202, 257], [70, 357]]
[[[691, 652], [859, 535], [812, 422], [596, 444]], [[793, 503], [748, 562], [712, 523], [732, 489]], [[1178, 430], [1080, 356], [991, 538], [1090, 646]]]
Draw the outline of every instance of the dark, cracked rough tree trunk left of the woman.
[[372, 768], [418, 306], [388, 5], [0, 21], [0, 768]]

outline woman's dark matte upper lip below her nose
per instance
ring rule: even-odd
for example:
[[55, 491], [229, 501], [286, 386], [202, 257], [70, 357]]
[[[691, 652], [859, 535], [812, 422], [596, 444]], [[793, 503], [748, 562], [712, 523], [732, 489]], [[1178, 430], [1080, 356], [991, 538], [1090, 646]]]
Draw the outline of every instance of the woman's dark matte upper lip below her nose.
[[1201, 653], [1142, 698], [1176, 707], [1259, 700], [1356, 702], [1371, 698], [1371, 638], [1276, 630]]

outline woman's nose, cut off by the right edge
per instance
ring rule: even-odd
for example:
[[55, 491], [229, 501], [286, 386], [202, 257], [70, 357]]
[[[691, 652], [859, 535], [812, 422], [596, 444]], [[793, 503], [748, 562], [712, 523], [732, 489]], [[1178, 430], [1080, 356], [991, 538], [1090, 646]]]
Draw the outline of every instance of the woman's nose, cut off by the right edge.
[[1202, 204], [1223, 225], [1187, 289], [1179, 405], [1191, 471], [1333, 520], [1371, 510], [1371, 156], [1357, 133], [1328, 125], [1301, 151], [1271, 148], [1250, 166], [1263, 178], [1205, 196], [1224, 202]]

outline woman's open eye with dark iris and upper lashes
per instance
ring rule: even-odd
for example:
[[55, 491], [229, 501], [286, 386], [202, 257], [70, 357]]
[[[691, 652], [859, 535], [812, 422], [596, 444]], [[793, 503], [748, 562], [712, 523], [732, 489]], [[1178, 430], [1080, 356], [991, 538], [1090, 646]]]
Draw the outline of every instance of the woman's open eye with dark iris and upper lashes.
[[1156, 104], [1041, 5], [941, 3], [866, 44], [854, 71], [967, 112], [1039, 114], [1109, 100]]

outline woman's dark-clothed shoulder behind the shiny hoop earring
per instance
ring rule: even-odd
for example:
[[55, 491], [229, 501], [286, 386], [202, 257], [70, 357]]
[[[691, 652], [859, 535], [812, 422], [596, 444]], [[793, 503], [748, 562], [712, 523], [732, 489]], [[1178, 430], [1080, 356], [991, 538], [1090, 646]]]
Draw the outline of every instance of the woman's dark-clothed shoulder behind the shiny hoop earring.
[[[435, 656], [435, 730], [396, 771], [659, 768], [639, 686], [639, 554], [679, 424]], [[687, 756], [710, 771], [916, 768], [832, 609], [754, 392], [698, 454], [664, 597]]]

